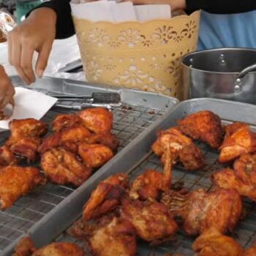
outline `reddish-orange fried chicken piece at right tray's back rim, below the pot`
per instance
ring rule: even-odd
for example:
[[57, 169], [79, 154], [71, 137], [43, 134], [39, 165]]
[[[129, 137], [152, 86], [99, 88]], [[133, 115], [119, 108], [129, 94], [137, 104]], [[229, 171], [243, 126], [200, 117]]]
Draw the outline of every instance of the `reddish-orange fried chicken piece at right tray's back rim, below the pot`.
[[222, 143], [222, 124], [219, 116], [203, 110], [178, 121], [178, 129], [194, 140], [201, 140], [212, 148]]

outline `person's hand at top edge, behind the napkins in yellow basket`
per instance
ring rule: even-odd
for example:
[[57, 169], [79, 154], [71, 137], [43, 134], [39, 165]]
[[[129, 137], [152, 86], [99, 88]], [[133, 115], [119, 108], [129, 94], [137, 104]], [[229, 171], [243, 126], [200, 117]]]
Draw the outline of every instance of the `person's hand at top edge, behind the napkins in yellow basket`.
[[186, 9], [186, 0], [121, 0], [123, 1], [132, 1], [133, 4], [169, 4], [172, 12]]

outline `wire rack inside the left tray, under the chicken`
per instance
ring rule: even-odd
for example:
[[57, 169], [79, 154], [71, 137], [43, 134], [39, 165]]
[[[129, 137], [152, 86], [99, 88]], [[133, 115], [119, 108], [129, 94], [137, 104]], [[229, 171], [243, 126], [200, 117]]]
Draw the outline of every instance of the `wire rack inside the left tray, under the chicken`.
[[[45, 94], [58, 94], [58, 91], [47, 91], [37, 89]], [[61, 93], [63, 94], [63, 93]], [[75, 104], [74, 102], [66, 102], [66, 104]], [[162, 116], [164, 110], [155, 110], [151, 108], [143, 108], [135, 105], [122, 105], [113, 108], [113, 130], [120, 146], [118, 151], [127, 146], [135, 139], [140, 132], [150, 126], [159, 116]], [[50, 110], [42, 121], [50, 124], [53, 119], [61, 114], [71, 112], [61, 108], [53, 108]], [[9, 132], [1, 132], [0, 143], [10, 135]], [[36, 163], [39, 165], [39, 162]], [[39, 221], [50, 210], [58, 206], [68, 195], [74, 191], [72, 187], [58, 186], [48, 182], [45, 186], [39, 186], [29, 195], [21, 197], [15, 204], [6, 211], [0, 211], [0, 254], [1, 251], [12, 243], [23, 233], [26, 233], [30, 227]]]

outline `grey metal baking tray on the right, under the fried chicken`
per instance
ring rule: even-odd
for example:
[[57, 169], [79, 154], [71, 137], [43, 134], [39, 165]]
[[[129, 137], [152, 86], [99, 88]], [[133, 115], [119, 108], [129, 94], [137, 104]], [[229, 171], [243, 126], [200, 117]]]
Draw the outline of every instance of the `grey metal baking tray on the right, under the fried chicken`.
[[[124, 148], [113, 161], [108, 162], [102, 171], [92, 176], [86, 184], [64, 199], [58, 207], [53, 209], [47, 216], [37, 222], [29, 230], [29, 236], [37, 246], [44, 246], [52, 241], [74, 241], [74, 238], [67, 235], [67, 229], [81, 216], [83, 204], [88, 200], [92, 190], [97, 187], [99, 181], [118, 172], [128, 172], [131, 178], [143, 173], [146, 169], [154, 168], [162, 171], [159, 159], [152, 154], [151, 144], [156, 140], [156, 133], [159, 129], [167, 129], [176, 125], [176, 121], [189, 113], [199, 110], [211, 110], [217, 113], [223, 122], [243, 121], [250, 124], [252, 129], [256, 129], [256, 106], [241, 102], [230, 102], [222, 99], [190, 99], [179, 103], [174, 110], [168, 110], [164, 118], [159, 119], [146, 131], [138, 135], [136, 140]], [[209, 177], [214, 170], [222, 166], [217, 164], [217, 151], [203, 143], [197, 143], [203, 150], [208, 164], [207, 171], [188, 172], [181, 166], [173, 168], [173, 182], [184, 182], [184, 187], [188, 189], [211, 189]], [[238, 227], [234, 237], [242, 246], [250, 246], [256, 239], [256, 211], [255, 206], [245, 200], [244, 205], [248, 209], [248, 215]], [[138, 255], [165, 255], [165, 253], [178, 252], [183, 255], [194, 255], [192, 252], [192, 242], [194, 238], [185, 236], [181, 231], [177, 234], [176, 242], [169, 246], [158, 246], [156, 248], [148, 246], [146, 243], [138, 244]], [[11, 255], [14, 243], [10, 244], [2, 253], [3, 256]]]

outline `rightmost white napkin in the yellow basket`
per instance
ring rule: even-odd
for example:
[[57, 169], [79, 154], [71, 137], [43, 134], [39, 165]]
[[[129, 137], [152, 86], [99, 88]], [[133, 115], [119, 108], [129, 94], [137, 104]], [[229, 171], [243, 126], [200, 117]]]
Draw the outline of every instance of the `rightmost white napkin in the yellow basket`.
[[169, 4], [135, 5], [134, 8], [136, 18], [139, 21], [171, 18]]

